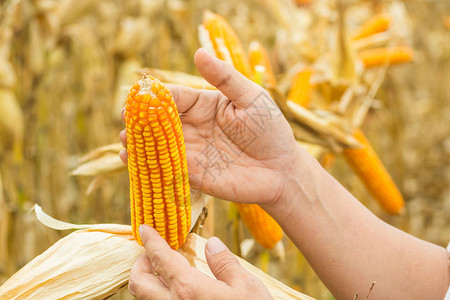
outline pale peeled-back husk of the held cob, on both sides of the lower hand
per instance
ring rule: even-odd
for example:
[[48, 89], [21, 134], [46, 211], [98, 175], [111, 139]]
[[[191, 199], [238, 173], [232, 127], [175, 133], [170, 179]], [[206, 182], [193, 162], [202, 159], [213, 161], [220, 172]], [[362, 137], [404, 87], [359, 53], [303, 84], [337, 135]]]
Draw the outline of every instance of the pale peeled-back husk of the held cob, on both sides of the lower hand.
[[[6, 281], [0, 287], [0, 299], [105, 299], [127, 285], [134, 261], [145, 251], [134, 240], [131, 226], [66, 223], [48, 216], [38, 205], [35, 212], [39, 221], [51, 228], [78, 230], [60, 239]], [[205, 243], [206, 239], [191, 233], [178, 251], [193, 267], [214, 278], [206, 262]], [[237, 259], [264, 282], [275, 299], [312, 299]]]

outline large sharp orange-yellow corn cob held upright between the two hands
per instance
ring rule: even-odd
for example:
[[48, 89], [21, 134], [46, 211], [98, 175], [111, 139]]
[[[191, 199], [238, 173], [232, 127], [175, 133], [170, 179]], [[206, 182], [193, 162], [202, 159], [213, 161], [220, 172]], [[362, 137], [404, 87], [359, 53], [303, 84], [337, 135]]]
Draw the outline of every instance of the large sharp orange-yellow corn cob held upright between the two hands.
[[127, 131], [133, 235], [153, 226], [173, 249], [181, 246], [191, 223], [186, 153], [181, 121], [170, 91], [143, 75], [128, 94]]

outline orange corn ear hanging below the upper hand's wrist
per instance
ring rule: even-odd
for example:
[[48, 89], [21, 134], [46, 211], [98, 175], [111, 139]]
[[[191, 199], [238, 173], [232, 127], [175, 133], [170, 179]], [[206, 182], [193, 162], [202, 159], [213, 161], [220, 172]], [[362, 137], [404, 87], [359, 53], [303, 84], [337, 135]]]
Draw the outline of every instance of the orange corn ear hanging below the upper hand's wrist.
[[282, 238], [280, 225], [257, 204], [236, 203], [242, 221], [261, 246], [272, 249]]

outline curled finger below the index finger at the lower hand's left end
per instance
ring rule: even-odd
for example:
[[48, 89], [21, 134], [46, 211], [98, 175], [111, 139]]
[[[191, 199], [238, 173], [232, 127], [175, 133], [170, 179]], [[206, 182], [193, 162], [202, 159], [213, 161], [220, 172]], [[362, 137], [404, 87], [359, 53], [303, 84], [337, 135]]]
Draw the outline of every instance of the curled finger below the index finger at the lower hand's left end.
[[130, 293], [138, 299], [170, 299], [169, 288], [154, 274], [147, 256], [139, 256], [130, 273]]

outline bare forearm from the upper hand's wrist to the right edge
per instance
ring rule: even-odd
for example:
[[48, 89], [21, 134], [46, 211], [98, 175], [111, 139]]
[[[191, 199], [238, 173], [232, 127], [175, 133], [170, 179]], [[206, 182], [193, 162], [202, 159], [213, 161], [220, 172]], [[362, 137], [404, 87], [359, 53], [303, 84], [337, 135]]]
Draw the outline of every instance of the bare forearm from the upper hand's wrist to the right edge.
[[[303, 152], [304, 150], [299, 150]], [[338, 299], [442, 299], [447, 251], [378, 219], [307, 153], [276, 205], [264, 207]]]

